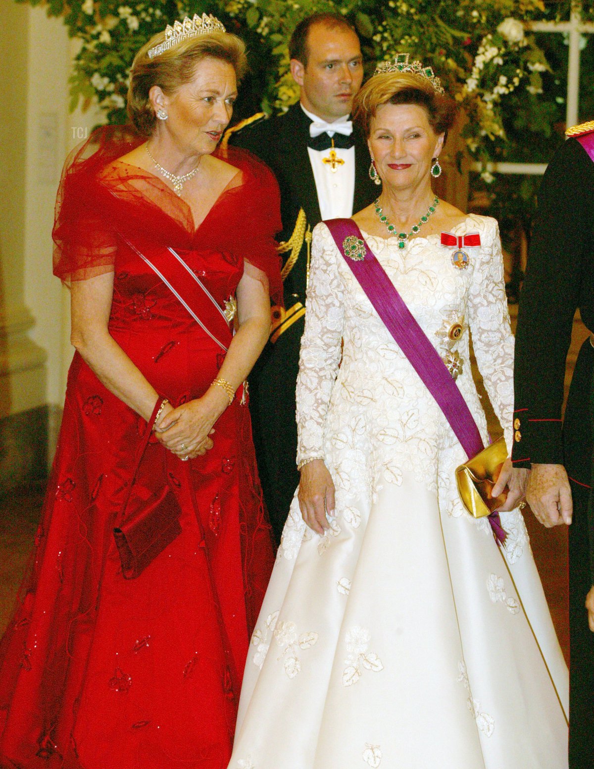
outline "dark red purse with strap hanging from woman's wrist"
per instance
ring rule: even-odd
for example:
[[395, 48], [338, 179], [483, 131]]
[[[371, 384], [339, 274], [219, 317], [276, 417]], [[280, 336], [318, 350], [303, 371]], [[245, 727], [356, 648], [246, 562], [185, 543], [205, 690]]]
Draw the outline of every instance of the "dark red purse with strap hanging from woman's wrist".
[[121, 514], [121, 524], [114, 528], [114, 540], [125, 579], [134, 579], [142, 574], [148, 564], [181, 534], [181, 509], [167, 481], [167, 475], [164, 474], [164, 487], [156, 491], [138, 478], [138, 470], [160, 405], [161, 398], [154, 407], [138, 450], [130, 491]]

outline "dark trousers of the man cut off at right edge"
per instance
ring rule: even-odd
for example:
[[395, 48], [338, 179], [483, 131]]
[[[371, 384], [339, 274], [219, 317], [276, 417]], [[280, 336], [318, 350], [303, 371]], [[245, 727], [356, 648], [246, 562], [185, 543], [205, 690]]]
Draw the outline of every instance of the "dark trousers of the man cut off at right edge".
[[592, 490], [594, 348], [579, 352], [563, 423], [573, 519], [569, 527], [569, 769], [594, 767], [594, 633], [584, 601], [592, 588], [588, 506]]

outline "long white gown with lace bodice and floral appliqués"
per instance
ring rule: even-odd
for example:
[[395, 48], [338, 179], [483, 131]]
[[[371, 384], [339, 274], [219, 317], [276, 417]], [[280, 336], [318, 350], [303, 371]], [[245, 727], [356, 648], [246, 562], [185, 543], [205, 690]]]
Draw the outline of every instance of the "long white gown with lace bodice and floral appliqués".
[[[460, 355], [456, 384], [486, 440], [470, 328], [509, 447], [513, 336], [499, 233], [483, 216], [453, 230], [471, 231], [481, 246], [467, 250], [466, 269], [439, 235], [403, 250], [366, 237], [435, 347]], [[452, 344], [456, 322], [465, 330]], [[501, 515], [499, 549], [486, 519], [463, 510], [463, 449], [324, 224], [314, 229], [297, 423], [298, 461], [324, 458], [336, 511], [320, 537], [297, 497], [291, 505], [230, 769], [567, 767], [567, 669], [523, 518]]]

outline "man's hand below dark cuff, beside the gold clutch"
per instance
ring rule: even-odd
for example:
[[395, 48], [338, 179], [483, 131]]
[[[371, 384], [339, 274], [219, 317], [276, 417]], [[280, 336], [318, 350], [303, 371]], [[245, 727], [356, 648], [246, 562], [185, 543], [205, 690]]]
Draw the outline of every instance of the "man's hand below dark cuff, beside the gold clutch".
[[552, 528], [569, 524], [573, 504], [569, 479], [562, 464], [533, 464], [526, 488], [526, 501], [536, 518]]

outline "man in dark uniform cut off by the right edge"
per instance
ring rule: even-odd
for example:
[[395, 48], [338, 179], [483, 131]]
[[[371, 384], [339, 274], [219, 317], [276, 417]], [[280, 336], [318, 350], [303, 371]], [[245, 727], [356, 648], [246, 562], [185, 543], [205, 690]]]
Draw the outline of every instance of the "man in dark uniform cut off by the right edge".
[[[576, 309], [594, 331], [594, 122], [546, 169], [516, 332], [513, 463], [532, 468], [526, 498], [545, 526], [569, 524], [569, 767], [594, 767], [594, 335], [576, 362], [562, 421]], [[586, 611], [586, 597], [589, 612]]]

